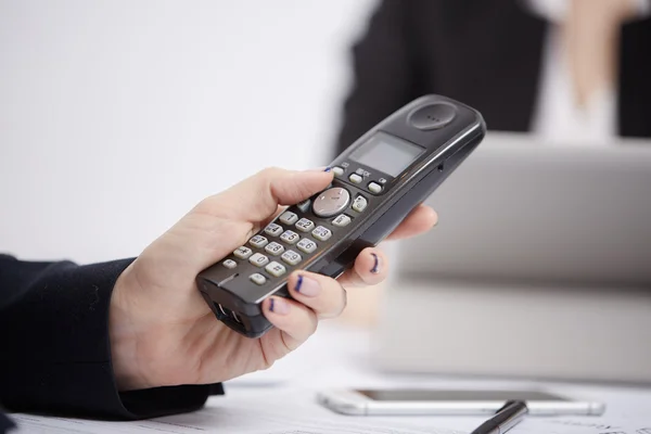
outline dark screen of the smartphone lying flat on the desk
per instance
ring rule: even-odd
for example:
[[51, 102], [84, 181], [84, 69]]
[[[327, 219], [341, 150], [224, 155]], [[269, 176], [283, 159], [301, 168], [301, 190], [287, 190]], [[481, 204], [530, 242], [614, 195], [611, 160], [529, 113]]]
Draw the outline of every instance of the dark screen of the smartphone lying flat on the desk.
[[476, 400], [524, 400], [524, 401], [567, 401], [569, 399], [537, 391], [427, 391], [427, 390], [386, 390], [357, 391], [358, 393], [382, 401], [476, 401]]

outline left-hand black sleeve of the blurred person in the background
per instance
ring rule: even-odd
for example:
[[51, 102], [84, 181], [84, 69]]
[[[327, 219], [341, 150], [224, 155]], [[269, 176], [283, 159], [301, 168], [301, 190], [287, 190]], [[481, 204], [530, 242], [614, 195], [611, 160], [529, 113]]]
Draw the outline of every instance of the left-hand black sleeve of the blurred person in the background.
[[344, 103], [336, 153], [421, 93], [419, 40], [412, 35], [414, 2], [383, 0], [366, 34], [353, 46], [353, 87]]

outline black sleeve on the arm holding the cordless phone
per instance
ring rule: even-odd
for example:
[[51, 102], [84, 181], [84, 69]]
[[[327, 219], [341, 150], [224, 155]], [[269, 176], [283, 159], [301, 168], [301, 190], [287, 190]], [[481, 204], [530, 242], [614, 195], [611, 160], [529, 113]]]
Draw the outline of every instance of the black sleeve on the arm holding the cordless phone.
[[201, 408], [219, 384], [119, 393], [108, 306], [132, 259], [78, 266], [0, 255], [0, 403], [10, 411], [143, 419]]

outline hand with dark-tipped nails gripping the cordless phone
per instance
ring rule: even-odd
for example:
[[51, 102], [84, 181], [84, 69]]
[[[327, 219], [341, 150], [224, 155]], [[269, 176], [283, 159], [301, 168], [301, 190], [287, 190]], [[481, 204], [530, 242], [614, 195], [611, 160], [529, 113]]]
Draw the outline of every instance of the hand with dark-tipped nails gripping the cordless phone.
[[[265, 169], [205, 199], [149, 245], [119, 276], [111, 299], [108, 333], [118, 388], [209, 384], [267, 369], [305, 342], [320, 319], [343, 311], [343, 286], [384, 280], [387, 259], [371, 247], [339, 280], [297, 270], [289, 278], [292, 299], [264, 302], [275, 328], [257, 340], [218, 321], [196, 290], [200, 271], [243, 245], [283, 206], [331, 181], [332, 173], [323, 170]], [[425, 232], [436, 219], [433, 209], [419, 206], [390, 238]]]

